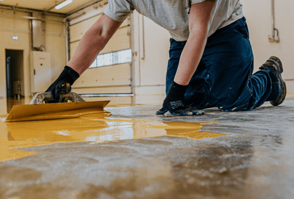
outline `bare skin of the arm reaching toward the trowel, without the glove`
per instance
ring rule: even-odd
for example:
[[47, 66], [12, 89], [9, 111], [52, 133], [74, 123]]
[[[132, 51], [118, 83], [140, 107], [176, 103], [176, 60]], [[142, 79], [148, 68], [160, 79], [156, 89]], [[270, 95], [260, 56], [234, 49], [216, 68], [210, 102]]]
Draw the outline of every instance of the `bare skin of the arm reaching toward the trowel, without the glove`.
[[81, 75], [96, 59], [100, 51], [106, 46], [109, 39], [123, 22], [117, 22], [107, 15], [102, 16], [83, 35], [74, 56], [67, 66]]

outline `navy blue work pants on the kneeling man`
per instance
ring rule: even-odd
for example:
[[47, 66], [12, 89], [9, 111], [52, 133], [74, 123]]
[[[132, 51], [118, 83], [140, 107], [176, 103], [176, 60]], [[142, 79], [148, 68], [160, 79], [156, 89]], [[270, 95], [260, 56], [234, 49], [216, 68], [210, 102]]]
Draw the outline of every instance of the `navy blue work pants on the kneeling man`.
[[[178, 69], [186, 41], [170, 39], [166, 94]], [[218, 29], [208, 37], [201, 61], [185, 94], [186, 105], [220, 111], [248, 111], [278, 98], [281, 88], [269, 69], [253, 73], [253, 53], [246, 19]]]

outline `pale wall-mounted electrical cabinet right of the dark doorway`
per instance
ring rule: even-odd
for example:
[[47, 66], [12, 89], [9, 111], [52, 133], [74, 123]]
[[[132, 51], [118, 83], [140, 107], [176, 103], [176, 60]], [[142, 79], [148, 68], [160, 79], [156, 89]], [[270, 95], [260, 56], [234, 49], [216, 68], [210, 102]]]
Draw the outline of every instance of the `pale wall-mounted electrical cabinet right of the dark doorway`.
[[51, 83], [50, 53], [31, 51], [31, 93], [45, 92]]

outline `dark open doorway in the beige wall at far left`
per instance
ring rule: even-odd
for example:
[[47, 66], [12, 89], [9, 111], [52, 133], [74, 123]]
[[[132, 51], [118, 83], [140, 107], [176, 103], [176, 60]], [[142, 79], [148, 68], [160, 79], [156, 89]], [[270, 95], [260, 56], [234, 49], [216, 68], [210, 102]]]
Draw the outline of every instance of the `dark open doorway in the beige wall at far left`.
[[24, 96], [24, 51], [5, 50], [6, 96]]

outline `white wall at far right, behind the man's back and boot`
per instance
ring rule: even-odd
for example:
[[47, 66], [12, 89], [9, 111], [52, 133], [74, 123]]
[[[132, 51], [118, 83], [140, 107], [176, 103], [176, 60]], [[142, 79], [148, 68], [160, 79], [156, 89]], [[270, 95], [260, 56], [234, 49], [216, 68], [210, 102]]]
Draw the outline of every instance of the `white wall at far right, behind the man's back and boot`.
[[241, 0], [247, 20], [250, 43], [254, 55], [254, 71], [258, 71], [270, 56], [281, 59], [288, 93], [294, 92], [294, 12], [293, 0], [275, 0], [275, 27], [279, 30], [280, 43], [268, 42], [272, 34], [271, 1]]

